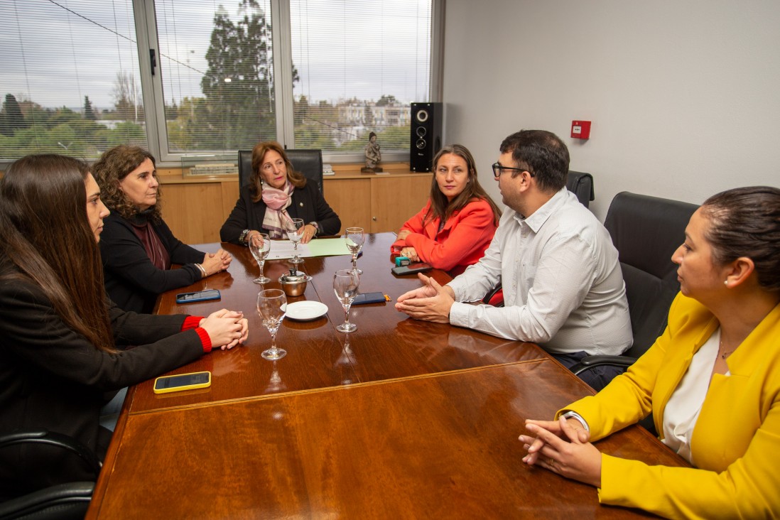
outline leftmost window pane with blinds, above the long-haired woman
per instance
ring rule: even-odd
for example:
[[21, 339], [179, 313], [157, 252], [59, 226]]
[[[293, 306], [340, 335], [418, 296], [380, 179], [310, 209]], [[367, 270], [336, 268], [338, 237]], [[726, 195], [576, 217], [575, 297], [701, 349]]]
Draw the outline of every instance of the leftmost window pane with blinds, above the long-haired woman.
[[147, 147], [131, 0], [5, 0], [0, 42], [0, 160]]

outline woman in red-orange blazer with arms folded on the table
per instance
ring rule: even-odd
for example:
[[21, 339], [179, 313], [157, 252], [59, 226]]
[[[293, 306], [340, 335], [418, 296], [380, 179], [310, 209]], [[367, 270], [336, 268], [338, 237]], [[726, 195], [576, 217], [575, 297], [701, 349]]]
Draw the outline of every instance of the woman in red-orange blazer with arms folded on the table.
[[466, 147], [444, 147], [433, 163], [431, 198], [402, 226], [391, 251], [457, 276], [482, 258], [501, 211], [480, 186]]

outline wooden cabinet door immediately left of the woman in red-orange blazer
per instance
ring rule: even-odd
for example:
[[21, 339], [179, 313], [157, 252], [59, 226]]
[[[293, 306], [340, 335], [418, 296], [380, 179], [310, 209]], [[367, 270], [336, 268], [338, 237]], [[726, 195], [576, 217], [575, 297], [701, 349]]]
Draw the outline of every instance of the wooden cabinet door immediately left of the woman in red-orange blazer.
[[431, 192], [431, 174], [371, 179], [371, 232], [398, 231], [420, 211]]

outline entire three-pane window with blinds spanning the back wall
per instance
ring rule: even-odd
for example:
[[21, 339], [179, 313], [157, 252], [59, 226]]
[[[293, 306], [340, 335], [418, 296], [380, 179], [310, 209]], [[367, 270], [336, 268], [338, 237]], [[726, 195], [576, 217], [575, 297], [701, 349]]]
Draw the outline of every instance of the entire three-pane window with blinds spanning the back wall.
[[261, 140], [354, 161], [372, 132], [402, 157], [410, 103], [430, 101], [434, 2], [3, 0], [0, 161]]

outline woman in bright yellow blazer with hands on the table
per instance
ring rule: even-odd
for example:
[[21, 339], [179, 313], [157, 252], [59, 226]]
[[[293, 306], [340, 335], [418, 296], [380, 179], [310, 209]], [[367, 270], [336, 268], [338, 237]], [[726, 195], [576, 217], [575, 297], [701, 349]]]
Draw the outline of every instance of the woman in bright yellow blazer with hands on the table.
[[[690, 219], [668, 327], [593, 397], [528, 420], [523, 462], [599, 488], [599, 501], [668, 518], [780, 516], [780, 189], [732, 189]], [[693, 468], [599, 453], [653, 412]]]

